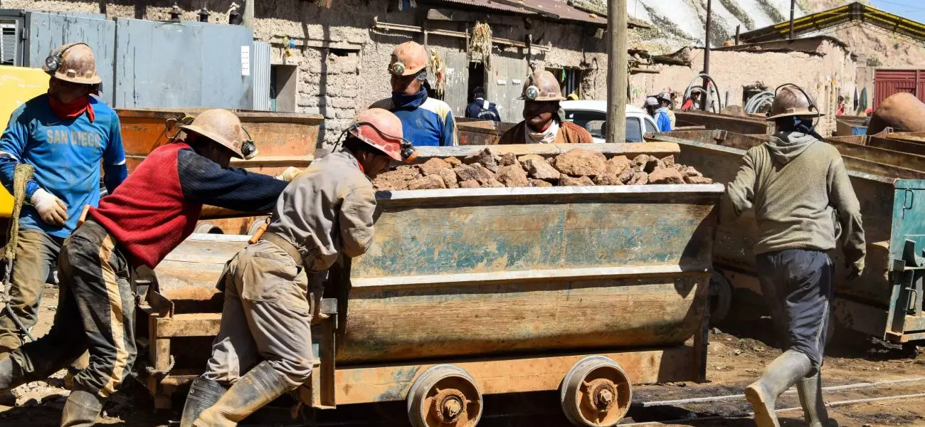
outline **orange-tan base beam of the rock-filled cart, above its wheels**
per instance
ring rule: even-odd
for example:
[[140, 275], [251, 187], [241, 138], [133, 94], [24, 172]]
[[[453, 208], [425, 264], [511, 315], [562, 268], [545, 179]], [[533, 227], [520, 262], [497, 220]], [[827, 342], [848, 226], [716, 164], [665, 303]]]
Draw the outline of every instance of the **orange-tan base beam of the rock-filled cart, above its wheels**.
[[[690, 347], [598, 353], [615, 360], [633, 384], [652, 384], [697, 379]], [[559, 388], [565, 374], [578, 360], [594, 353], [523, 357], [516, 359], [448, 361], [469, 372], [484, 395], [550, 391]], [[430, 364], [396, 364], [339, 368], [336, 373], [337, 404], [403, 400], [417, 377]]]

